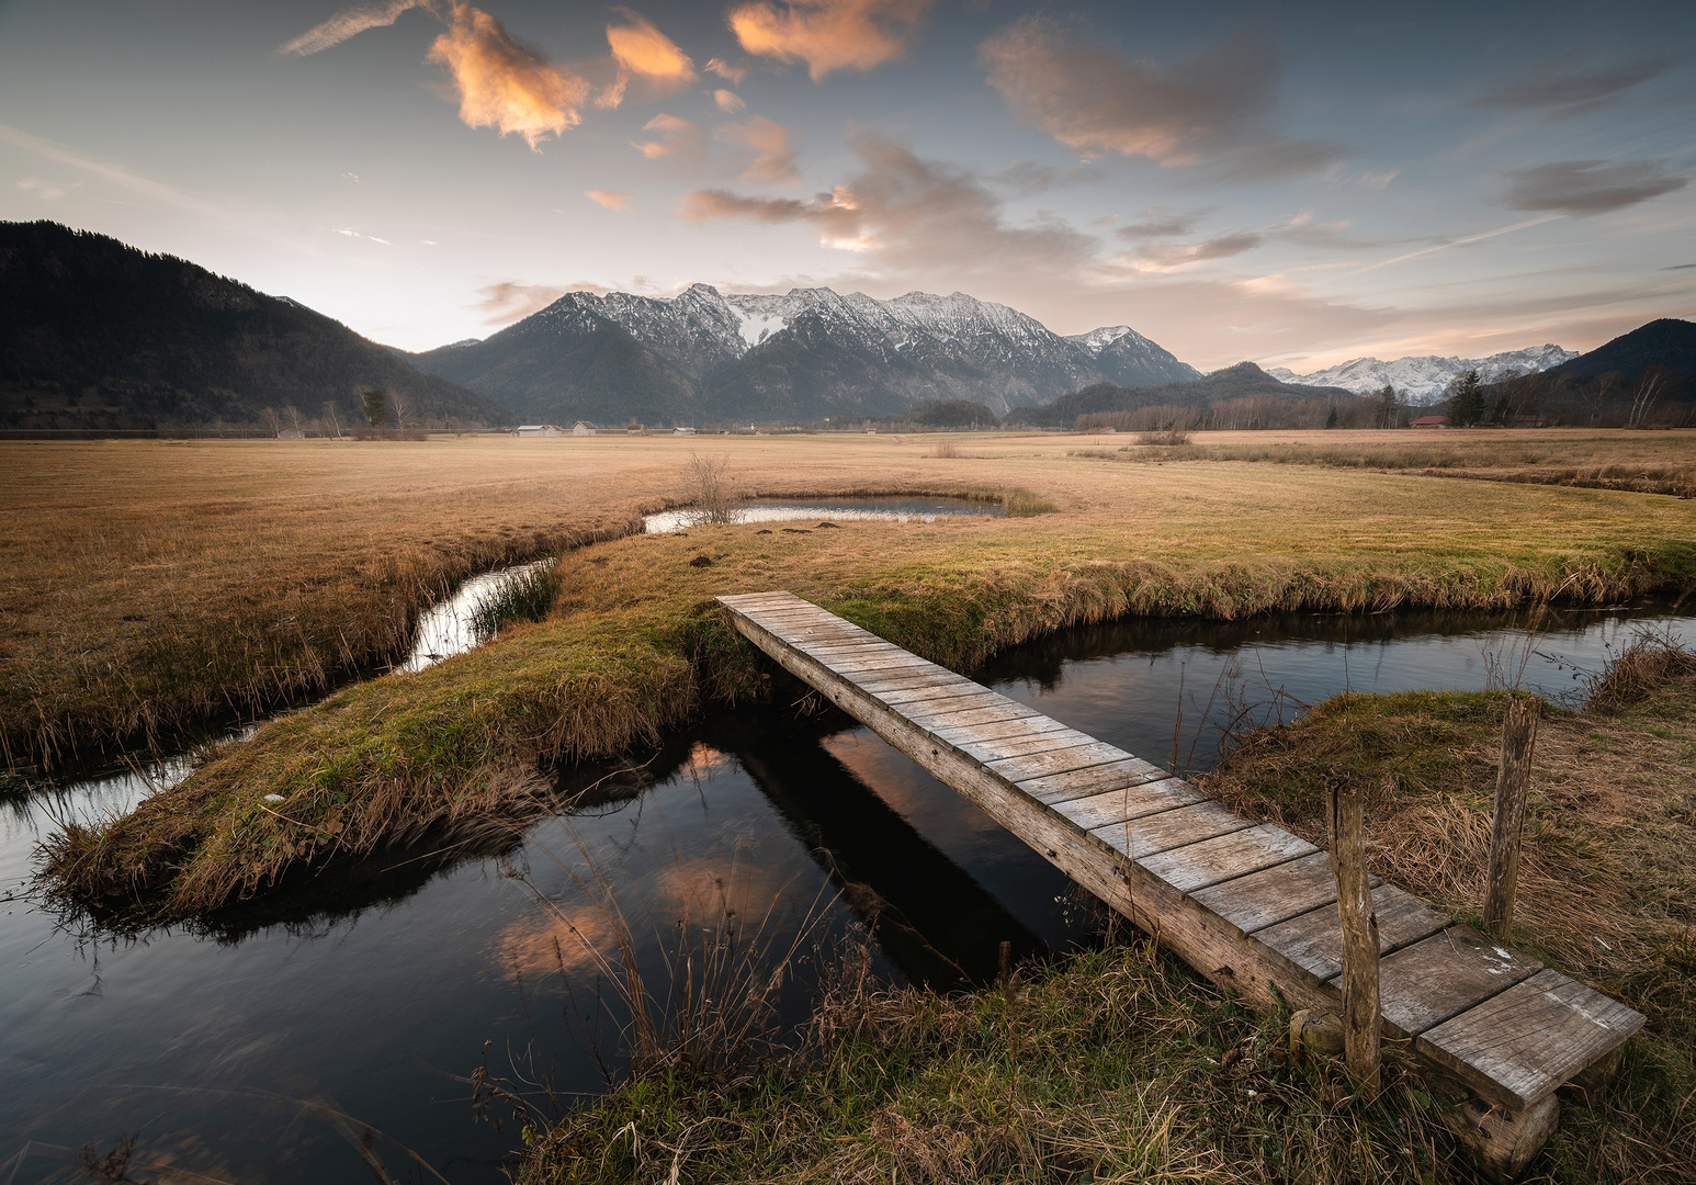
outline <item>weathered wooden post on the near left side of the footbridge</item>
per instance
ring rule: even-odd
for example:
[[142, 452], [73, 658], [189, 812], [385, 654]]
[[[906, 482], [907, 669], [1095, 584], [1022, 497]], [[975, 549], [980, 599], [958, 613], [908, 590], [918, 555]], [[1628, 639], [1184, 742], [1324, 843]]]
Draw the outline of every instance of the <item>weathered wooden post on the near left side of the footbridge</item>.
[[1360, 793], [1331, 785], [1326, 815], [1331, 829], [1331, 873], [1336, 912], [1343, 922], [1343, 1061], [1367, 1097], [1379, 1092], [1377, 910], [1367, 878], [1360, 836]]

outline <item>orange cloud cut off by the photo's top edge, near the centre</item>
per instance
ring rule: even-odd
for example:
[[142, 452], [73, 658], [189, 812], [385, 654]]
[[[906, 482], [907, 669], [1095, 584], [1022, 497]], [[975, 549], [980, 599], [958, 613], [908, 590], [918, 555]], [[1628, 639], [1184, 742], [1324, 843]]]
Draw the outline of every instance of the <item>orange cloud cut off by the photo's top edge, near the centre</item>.
[[758, 58], [804, 61], [812, 81], [838, 70], [875, 70], [907, 56], [936, 0], [787, 0], [739, 3], [731, 32]]

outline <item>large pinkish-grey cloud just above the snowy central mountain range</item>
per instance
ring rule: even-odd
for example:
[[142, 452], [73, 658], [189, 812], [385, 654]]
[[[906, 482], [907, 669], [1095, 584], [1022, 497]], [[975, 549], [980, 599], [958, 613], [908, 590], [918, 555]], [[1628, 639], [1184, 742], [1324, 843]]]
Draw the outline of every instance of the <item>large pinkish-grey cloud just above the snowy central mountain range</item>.
[[1055, 219], [1009, 225], [1001, 202], [963, 170], [870, 132], [850, 134], [848, 147], [863, 170], [829, 193], [801, 200], [695, 190], [680, 214], [692, 222], [802, 222], [824, 246], [867, 254], [885, 275], [951, 276], [962, 287], [989, 276], [1075, 275], [1096, 254], [1094, 236]]

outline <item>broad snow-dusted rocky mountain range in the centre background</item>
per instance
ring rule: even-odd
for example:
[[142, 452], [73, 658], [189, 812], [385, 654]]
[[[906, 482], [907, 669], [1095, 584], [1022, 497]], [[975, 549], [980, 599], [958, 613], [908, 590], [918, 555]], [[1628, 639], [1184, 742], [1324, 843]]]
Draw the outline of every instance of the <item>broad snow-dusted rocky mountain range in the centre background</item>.
[[573, 292], [480, 342], [412, 361], [526, 419], [644, 422], [862, 419], [919, 403], [1004, 414], [1087, 383], [1199, 376], [1126, 325], [1062, 337], [965, 293], [894, 300], [694, 285], [672, 298]]

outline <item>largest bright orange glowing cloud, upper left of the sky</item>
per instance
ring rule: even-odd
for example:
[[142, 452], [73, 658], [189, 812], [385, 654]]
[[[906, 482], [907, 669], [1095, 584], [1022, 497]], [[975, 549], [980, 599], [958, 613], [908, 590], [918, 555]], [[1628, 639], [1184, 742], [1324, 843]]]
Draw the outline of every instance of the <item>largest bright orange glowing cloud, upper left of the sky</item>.
[[533, 153], [548, 136], [583, 119], [589, 83], [521, 46], [499, 20], [468, 3], [453, 5], [448, 31], [436, 37], [426, 61], [453, 75], [466, 127], [519, 136]]

